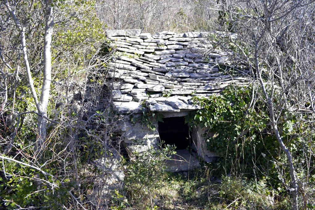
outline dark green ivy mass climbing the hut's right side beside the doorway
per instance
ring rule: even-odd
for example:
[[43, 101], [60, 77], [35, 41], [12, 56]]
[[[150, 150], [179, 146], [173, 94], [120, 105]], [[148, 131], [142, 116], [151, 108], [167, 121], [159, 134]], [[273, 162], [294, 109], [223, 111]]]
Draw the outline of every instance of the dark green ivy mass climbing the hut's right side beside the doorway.
[[[191, 127], [207, 128], [207, 147], [220, 156], [212, 163], [218, 175], [262, 177], [274, 169], [270, 165], [280, 157], [279, 146], [269, 124], [268, 107], [259, 95], [253, 102], [251, 87], [231, 86], [220, 95], [193, 98], [201, 109], [187, 116], [186, 122]], [[288, 113], [281, 122], [282, 135], [290, 135], [294, 116]]]

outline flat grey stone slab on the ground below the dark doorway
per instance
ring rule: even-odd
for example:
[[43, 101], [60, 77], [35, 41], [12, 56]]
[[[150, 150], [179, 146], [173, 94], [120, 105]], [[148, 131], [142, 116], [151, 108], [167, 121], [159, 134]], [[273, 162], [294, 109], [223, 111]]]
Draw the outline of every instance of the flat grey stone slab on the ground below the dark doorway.
[[187, 150], [175, 150], [176, 154], [171, 156], [171, 160], [167, 160], [166, 171], [177, 172], [177, 171], [189, 171], [194, 168], [200, 167], [197, 158], [192, 156]]

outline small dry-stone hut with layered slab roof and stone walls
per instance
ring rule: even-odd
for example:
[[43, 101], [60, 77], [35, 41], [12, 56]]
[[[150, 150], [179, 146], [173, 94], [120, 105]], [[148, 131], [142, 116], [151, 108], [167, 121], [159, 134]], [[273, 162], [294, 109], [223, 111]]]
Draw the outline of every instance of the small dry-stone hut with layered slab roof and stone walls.
[[[223, 68], [231, 65], [229, 58], [233, 52], [214, 48], [209, 39], [214, 34], [235, 36], [219, 32], [163, 31], [151, 35], [138, 29], [107, 31], [113, 52], [108, 64], [109, 90], [113, 108], [129, 116], [119, 128], [128, 152], [143, 152], [151, 146], [157, 147], [163, 140], [181, 151], [177, 158], [181, 162], [192, 158], [186, 147], [206, 162], [214, 160], [215, 151], [206, 148], [205, 130], [189, 129], [185, 124], [184, 116], [200, 108], [191, 99], [219, 94], [229, 84], [249, 82], [247, 71]], [[143, 118], [145, 111], [155, 113], [151, 122], [155, 130], [143, 125], [141, 120], [131, 122], [131, 118]], [[158, 122], [158, 117], [163, 122]], [[197, 159], [194, 161], [190, 162], [192, 167], [198, 165]], [[171, 170], [185, 170], [185, 167]]]

